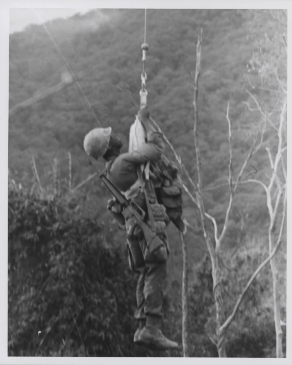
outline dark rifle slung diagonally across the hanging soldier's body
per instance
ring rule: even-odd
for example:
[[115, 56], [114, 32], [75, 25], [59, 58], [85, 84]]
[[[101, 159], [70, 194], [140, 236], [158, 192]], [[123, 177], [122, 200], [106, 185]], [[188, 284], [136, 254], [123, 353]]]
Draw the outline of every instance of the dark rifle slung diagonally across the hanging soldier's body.
[[[132, 200], [128, 200], [125, 195], [119, 191], [119, 189], [106, 177], [106, 172], [102, 172], [100, 175], [102, 182], [109, 189], [109, 191], [113, 194], [117, 202], [120, 204], [122, 208], [122, 214], [125, 217], [125, 221], [127, 222], [129, 217], [135, 217], [136, 224], [138, 224], [144, 234], [145, 240], [147, 241], [147, 249], [150, 252], [158, 249], [162, 245], [165, 246], [165, 242], [163, 242], [145, 222], [145, 212], [141, 209], [138, 204], [133, 202]], [[150, 249], [151, 246], [151, 249]]]

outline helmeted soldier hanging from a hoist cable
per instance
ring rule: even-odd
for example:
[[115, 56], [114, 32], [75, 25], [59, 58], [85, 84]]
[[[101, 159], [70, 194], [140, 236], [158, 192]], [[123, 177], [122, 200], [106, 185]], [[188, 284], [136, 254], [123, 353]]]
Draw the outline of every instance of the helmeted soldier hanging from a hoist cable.
[[[84, 138], [84, 149], [91, 158], [97, 160], [103, 157], [106, 161], [102, 177], [106, 179], [103, 181], [114, 187], [115, 190], [111, 190], [117, 192], [114, 196], [118, 198], [119, 192], [122, 192], [121, 199], [132, 196], [131, 200], [135, 204], [134, 209], [129, 206], [126, 209], [123, 202], [120, 204], [121, 200], [113, 199], [108, 205], [117, 221], [126, 227], [129, 264], [139, 275], [135, 312], [139, 326], [134, 335], [134, 343], [151, 349], [166, 350], [178, 348], [178, 344], [167, 339], [160, 330], [166, 261], [169, 255], [165, 227], [169, 218], [164, 206], [157, 201], [153, 173], [148, 169], [146, 175], [152, 176], [152, 179], [147, 178], [145, 170], [142, 173], [140, 169], [141, 165], [148, 162], [159, 162], [164, 145], [162, 134], [154, 130], [149, 117], [147, 108], [142, 108], [138, 113], [138, 119], [147, 134], [147, 142], [137, 150], [119, 154], [122, 143], [111, 128], [95, 128], [90, 131]], [[145, 214], [137, 218], [139, 208]]]

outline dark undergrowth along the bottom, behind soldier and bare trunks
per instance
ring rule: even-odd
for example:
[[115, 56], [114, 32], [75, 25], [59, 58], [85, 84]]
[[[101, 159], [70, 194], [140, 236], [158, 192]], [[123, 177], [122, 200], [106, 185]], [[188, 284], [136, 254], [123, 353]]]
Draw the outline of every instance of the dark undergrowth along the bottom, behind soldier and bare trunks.
[[[133, 345], [135, 280], [125, 246], [113, 247], [112, 241], [109, 230], [96, 218], [84, 218], [82, 209], [68, 198], [41, 198], [10, 187], [9, 355], [181, 356], [180, 351], [157, 353]], [[250, 258], [249, 253], [241, 254], [233, 261], [235, 272], [241, 274], [224, 283], [231, 298], [227, 314], [253, 270]], [[270, 291], [268, 277], [266, 270], [238, 313], [229, 334], [229, 356], [271, 355], [275, 334], [263, 298]], [[194, 267], [192, 281], [191, 356], [216, 357], [210, 339], [214, 303], [208, 256]], [[178, 287], [175, 291], [180, 293]], [[163, 329], [180, 342], [181, 306], [171, 296], [168, 289]]]

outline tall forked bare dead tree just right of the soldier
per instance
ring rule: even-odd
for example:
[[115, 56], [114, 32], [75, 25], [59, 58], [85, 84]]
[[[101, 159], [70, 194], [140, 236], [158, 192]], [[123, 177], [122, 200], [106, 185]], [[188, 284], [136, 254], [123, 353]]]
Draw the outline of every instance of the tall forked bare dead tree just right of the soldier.
[[[214, 295], [214, 300], [215, 300], [215, 308], [216, 308], [216, 346], [217, 346], [217, 350], [218, 350], [218, 355], [220, 357], [226, 357], [226, 330], [228, 329], [230, 323], [232, 322], [232, 320], [235, 317], [235, 314], [242, 302], [242, 299], [244, 298], [245, 294], [247, 293], [249, 287], [251, 286], [253, 280], [257, 277], [257, 275], [259, 274], [259, 272], [262, 270], [262, 268], [268, 263], [268, 262], [273, 262], [274, 256], [278, 250], [278, 248], [280, 247], [281, 244], [281, 236], [282, 236], [282, 231], [283, 231], [283, 225], [284, 225], [284, 220], [285, 220], [285, 200], [283, 202], [283, 214], [282, 214], [282, 224], [281, 224], [281, 228], [280, 228], [280, 233], [278, 236], [278, 239], [276, 241], [276, 244], [271, 244], [271, 250], [270, 250], [270, 255], [269, 257], [267, 257], [257, 268], [257, 270], [253, 273], [253, 275], [251, 276], [250, 280], [248, 281], [247, 285], [245, 286], [244, 290], [242, 291], [241, 295], [239, 296], [236, 305], [232, 311], [232, 313], [229, 315], [229, 317], [227, 318], [227, 320], [225, 320], [225, 314], [224, 314], [224, 303], [223, 303], [223, 299], [222, 299], [222, 287], [221, 287], [221, 279], [222, 279], [222, 273], [221, 273], [221, 267], [220, 267], [220, 251], [222, 248], [222, 242], [225, 238], [226, 235], [226, 230], [228, 227], [228, 222], [229, 222], [229, 215], [230, 215], [230, 211], [231, 211], [231, 207], [233, 204], [233, 197], [235, 194], [235, 191], [238, 187], [239, 184], [241, 184], [242, 182], [241, 177], [242, 177], [242, 173], [245, 170], [245, 167], [248, 163], [248, 161], [251, 159], [251, 157], [253, 156], [253, 154], [255, 152], [257, 152], [259, 150], [259, 148], [261, 147], [262, 144], [262, 140], [263, 140], [263, 133], [264, 133], [264, 128], [262, 128], [261, 131], [261, 138], [260, 141], [258, 143], [258, 134], [259, 131], [256, 135], [256, 138], [254, 140], [254, 143], [251, 147], [250, 152], [248, 153], [244, 163], [242, 164], [239, 173], [237, 174], [237, 178], [235, 180], [235, 182], [232, 181], [232, 176], [233, 176], [233, 157], [232, 157], [232, 133], [231, 133], [231, 122], [230, 122], [230, 118], [229, 118], [229, 103], [227, 106], [227, 112], [226, 112], [226, 120], [228, 122], [228, 142], [229, 142], [229, 189], [230, 189], [230, 198], [229, 198], [229, 203], [228, 203], [228, 207], [227, 207], [227, 211], [225, 214], [225, 220], [224, 220], [224, 226], [223, 229], [221, 231], [221, 233], [218, 233], [218, 227], [217, 227], [217, 223], [215, 221], [215, 218], [212, 217], [210, 214], [208, 214], [205, 211], [205, 207], [204, 207], [204, 202], [203, 202], [203, 195], [202, 195], [202, 180], [201, 180], [201, 156], [200, 156], [200, 148], [199, 148], [199, 138], [198, 138], [198, 81], [199, 81], [199, 76], [200, 76], [200, 60], [201, 60], [201, 47], [202, 47], [202, 32], [198, 37], [198, 42], [197, 42], [197, 60], [196, 60], [196, 71], [194, 74], [194, 78], [192, 79], [193, 81], [193, 88], [194, 88], [194, 99], [193, 99], [193, 106], [194, 106], [194, 127], [193, 127], [193, 134], [194, 134], [194, 144], [195, 144], [195, 148], [196, 148], [196, 167], [197, 167], [197, 175], [198, 175], [198, 182], [197, 182], [197, 189], [195, 191], [196, 193], [196, 199], [194, 199], [194, 197], [192, 197], [192, 200], [194, 202], [196, 202], [199, 210], [200, 210], [200, 216], [201, 216], [201, 223], [202, 223], [202, 227], [203, 227], [203, 232], [204, 232], [204, 239], [206, 242], [206, 246], [208, 248], [208, 252], [210, 254], [210, 258], [211, 258], [211, 264], [212, 264], [212, 277], [213, 277], [213, 295]], [[191, 75], [191, 74], [190, 74]], [[279, 162], [282, 160], [280, 157], [280, 153], [283, 150], [282, 145], [278, 148], [279, 154], [277, 155], [278, 157], [276, 157], [276, 162], [279, 164]], [[275, 167], [275, 163], [273, 163], [273, 166]], [[275, 168], [274, 168], [275, 171]], [[277, 175], [276, 173], [273, 175], [273, 180], [274, 181], [278, 181], [279, 179], [277, 179]], [[247, 182], [251, 182], [253, 179], [248, 180]], [[246, 181], [244, 182], [246, 183]], [[261, 182], [260, 182], [261, 183]], [[263, 183], [261, 183], [263, 184]], [[276, 200], [276, 207], [278, 209], [279, 203], [280, 203], [280, 198], [282, 197], [283, 194], [283, 189], [281, 189], [281, 186], [279, 186], [278, 184], [278, 196], [277, 196], [277, 200]], [[192, 196], [192, 194], [186, 190], [187, 193], [189, 194], [189, 196]], [[286, 191], [286, 190], [285, 190]], [[284, 194], [286, 196], [286, 192]], [[271, 195], [270, 195], [270, 199], [271, 199]], [[205, 218], [209, 218], [209, 220], [212, 222], [213, 224], [213, 228], [214, 228], [214, 233], [213, 233], [213, 238], [215, 241], [215, 245], [212, 244], [212, 240], [210, 237], [210, 232], [208, 232], [208, 227], [206, 225], [206, 219]], [[272, 225], [271, 225], [272, 227]], [[272, 263], [271, 263], [272, 265]]]

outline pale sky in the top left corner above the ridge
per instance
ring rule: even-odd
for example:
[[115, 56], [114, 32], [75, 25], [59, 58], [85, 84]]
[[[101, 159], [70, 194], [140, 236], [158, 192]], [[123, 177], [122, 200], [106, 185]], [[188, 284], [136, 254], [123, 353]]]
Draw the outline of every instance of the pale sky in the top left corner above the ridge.
[[[66, 18], [76, 13], [84, 14], [90, 9], [75, 8], [75, 9], [35, 9], [36, 13], [42, 21], [47, 21], [55, 18]], [[32, 23], [40, 24], [40, 20], [34, 13], [33, 9], [10, 9], [10, 28], [9, 32], [19, 32], [26, 26]]]

